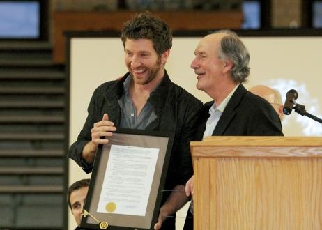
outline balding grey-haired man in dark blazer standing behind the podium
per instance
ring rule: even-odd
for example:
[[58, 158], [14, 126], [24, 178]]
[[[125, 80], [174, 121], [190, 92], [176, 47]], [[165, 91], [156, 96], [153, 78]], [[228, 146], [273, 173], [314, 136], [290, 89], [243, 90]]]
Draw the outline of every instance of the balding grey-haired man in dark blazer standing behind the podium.
[[[213, 99], [201, 109], [197, 141], [207, 136], [283, 135], [273, 107], [242, 84], [250, 74], [250, 54], [236, 33], [220, 30], [209, 34], [200, 40], [194, 54], [191, 68], [197, 75], [197, 89]], [[193, 195], [193, 176], [185, 191], [187, 196]], [[193, 229], [191, 213], [187, 215], [190, 218], [184, 229]]]

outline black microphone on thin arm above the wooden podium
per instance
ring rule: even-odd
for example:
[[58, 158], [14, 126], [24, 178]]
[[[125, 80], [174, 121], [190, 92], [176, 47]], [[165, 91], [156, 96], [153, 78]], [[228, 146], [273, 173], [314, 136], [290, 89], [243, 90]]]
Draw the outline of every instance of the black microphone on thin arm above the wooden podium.
[[291, 114], [292, 109], [294, 109], [294, 111], [297, 112], [298, 114], [302, 116], [307, 116], [313, 119], [314, 121], [322, 123], [322, 120], [320, 118], [306, 112], [304, 105], [300, 105], [296, 103], [297, 98], [298, 98], [298, 92], [296, 92], [295, 89], [291, 89], [289, 90], [289, 92], [286, 93], [286, 100], [283, 107], [284, 114], [289, 115]]

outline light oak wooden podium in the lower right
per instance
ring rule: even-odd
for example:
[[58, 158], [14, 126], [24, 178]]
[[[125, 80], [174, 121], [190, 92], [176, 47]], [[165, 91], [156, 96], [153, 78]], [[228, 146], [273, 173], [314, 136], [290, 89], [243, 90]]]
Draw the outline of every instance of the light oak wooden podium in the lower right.
[[194, 229], [322, 229], [322, 137], [191, 142]]

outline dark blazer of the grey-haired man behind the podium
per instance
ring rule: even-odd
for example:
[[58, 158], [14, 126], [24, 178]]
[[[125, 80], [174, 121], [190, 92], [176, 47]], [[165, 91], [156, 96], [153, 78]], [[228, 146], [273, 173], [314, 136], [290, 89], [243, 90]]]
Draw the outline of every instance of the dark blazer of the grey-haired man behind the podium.
[[[195, 140], [201, 141], [213, 105], [207, 102], [200, 113]], [[240, 84], [225, 107], [213, 136], [283, 136], [282, 125], [274, 108], [265, 99], [248, 92]], [[184, 230], [193, 229], [190, 209]]]

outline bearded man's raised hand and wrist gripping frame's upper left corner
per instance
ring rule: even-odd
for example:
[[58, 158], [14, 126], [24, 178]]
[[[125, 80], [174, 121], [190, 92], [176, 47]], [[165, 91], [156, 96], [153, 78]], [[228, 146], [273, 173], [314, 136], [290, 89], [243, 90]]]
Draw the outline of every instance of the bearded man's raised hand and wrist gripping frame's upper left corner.
[[88, 164], [93, 164], [96, 151], [99, 144], [109, 143], [108, 139], [100, 139], [100, 137], [111, 137], [116, 127], [112, 121], [109, 121], [107, 114], [103, 115], [102, 121], [94, 123], [91, 129], [91, 141], [84, 146], [82, 157]]

